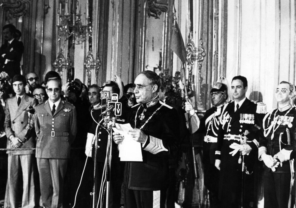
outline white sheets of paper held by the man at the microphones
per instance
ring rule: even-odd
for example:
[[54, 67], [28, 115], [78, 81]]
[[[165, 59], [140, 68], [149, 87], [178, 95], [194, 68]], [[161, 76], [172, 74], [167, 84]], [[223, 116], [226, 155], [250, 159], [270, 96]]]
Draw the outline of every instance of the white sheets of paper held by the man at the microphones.
[[122, 142], [118, 145], [120, 161], [143, 161], [141, 143], [136, 142], [128, 134], [128, 131], [133, 129], [131, 124], [115, 124], [116, 128], [112, 128], [124, 136]]

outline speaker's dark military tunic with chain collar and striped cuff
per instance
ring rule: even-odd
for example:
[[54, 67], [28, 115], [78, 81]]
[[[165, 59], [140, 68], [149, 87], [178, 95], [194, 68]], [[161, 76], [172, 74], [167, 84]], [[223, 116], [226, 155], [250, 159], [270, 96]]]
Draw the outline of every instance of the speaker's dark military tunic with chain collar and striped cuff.
[[[139, 116], [144, 109], [146, 109], [144, 118], [140, 120]], [[142, 191], [165, 189], [168, 183], [168, 156], [176, 153], [179, 140], [176, 110], [163, 106], [158, 101], [149, 107], [142, 104], [132, 108], [128, 122], [131, 127], [138, 129], [144, 125], [142, 131], [148, 135], [148, 139], [142, 147], [143, 162], [126, 163], [124, 180], [127, 188]], [[154, 138], [160, 139], [163, 144], [163, 147], [159, 147], [159, 151], [155, 152], [151, 150]], [[149, 150], [156, 154], [152, 154]]]

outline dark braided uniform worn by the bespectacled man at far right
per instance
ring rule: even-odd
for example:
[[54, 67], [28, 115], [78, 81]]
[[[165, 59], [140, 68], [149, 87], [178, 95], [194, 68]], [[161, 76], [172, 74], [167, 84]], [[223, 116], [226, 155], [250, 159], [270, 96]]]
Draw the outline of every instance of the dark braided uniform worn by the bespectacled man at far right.
[[[266, 153], [274, 157], [283, 149], [295, 149], [296, 108], [289, 105], [283, 111], [274, 109], [263, 119], [260, 132], [259, 160]], [[280, 164], [272, 171], [264, 163], [264, 207], [288, 207], [290, 196], [290, 162]]]

